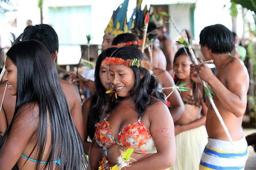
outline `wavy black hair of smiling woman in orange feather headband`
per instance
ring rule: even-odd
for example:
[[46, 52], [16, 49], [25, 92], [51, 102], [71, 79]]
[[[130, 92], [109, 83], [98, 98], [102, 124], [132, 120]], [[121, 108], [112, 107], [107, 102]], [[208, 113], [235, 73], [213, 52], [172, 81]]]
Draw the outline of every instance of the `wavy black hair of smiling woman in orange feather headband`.
[[[119, 48], [117, 51], [115, 51], [112, 57], [122, 58], [124, 60], [146, 60], [143, 53], [138, 48], [133, 46]], [[135, 108], [139, 114], [139, 117], [142, 117], [147, 106], [152, 105], [157, 101], [162, 101], [165, 103], [164, 95], [158, 91], [159, 83], [157, 78], [151, 75], [147, 69], [137, 66], [130, 66], [130, 68], [133, 70], [135, 76], [135, 84], [130, 90], [130, 95], [134, 100]], [[143, 75], [142, 78], [141, 75]], [[111, 102], [108, 112], [115, 109], [122, 99], [123, 98], [118, 96], [117, 99]]]

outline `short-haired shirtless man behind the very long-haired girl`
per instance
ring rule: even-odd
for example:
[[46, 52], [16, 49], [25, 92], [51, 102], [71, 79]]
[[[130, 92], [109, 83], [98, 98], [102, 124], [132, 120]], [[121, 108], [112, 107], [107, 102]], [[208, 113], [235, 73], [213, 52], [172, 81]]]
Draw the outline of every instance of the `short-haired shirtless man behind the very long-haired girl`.
[[[54, 29], [46, 24], [40, 24], [36, 26], [28, 26], [25, 28], [22, 36], [19, 36], [20, 39], [15, 40], [15, 43], [18, 43], [18, 41], [26, 41], [26, 40], [37, 40], [40, 41], [42, 44], [44, 44], [48, 50], [50, 51], [53, 60], [55, 61], [58, 55], [58, 36]], [[66, 81], [60, 80], [62, 89], [66, 95], [69, 109], [71, 112], [71, 116], [73, 118], [74, 124], [84, 141], [84, 125], [83, 125], [83, 117], [82, 117], [82, 111], [81, 111], [81, 99], [78, 94], [77, 89], [70, 83]], [[0, 86], [0, 101], [3, 99], [3, 94], [5, 90], [5, 84]], [[9, 90], [6, 90], [5, 98], [3, 107], [0, 112], [0, 117], [5, 116], [6, 118], [0, 119], [0, 131], [5, 132], [7, 126], [10, 125], [12, 121], [12, 117], [14, 114], [15, 109], [15, 101], [16, 96], [11, 95]], [[3, 127], [2, 125], [7, 125]]]

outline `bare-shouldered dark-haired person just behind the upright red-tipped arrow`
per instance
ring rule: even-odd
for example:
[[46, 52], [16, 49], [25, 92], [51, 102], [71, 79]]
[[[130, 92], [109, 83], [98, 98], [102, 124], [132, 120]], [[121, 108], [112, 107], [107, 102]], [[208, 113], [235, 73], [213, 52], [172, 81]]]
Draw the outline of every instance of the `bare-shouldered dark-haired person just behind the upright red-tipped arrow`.
[[[157, 38], [157, 33], [156, 33], [156, 25], [153, 22], [150, 22], [148, 25], [147, 29], [147, 34], [148, 34], [148, 40], [156, 40]], [[153, 53], [152, 53], [152, 58], [153, 58], [153, 66], [156, 68], [160, 68], [162, 70], [166, 70], [166, 58], [164, 56], [164, 53], [162, 50], [156, 46], [156, 43], [153, 42]], [[150, 52], [145, 50], [145, 54], [147, 55], [148, 58], [150, 58]]]

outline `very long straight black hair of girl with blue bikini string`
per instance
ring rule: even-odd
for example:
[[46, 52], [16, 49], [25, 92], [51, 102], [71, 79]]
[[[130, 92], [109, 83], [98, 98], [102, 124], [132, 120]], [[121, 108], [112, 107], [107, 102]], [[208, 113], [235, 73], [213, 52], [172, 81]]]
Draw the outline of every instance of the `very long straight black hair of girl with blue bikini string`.
[[[17, 111], [23, 105], [38, 105], [39, 120], [37, 141], [30, 155], [38, 147], [37, 161], [44, 154], [47, 130], [51, 128], [51, 147], [44, 169], [53, 169], [51, 161], [60, 158], [60, 169], [89, 169], [82, 140], [72, 121], [65, 94], [58, 80], [57, 70], [47, 48], [38, 41], [23, 41], [7, 52], [17, 67], [16, 106], [12, 122], [1, 141], [4, 147]], [[49, 123], [50, 125], [49, 125]], [[36, 163], [39, 169], [40, 163]]]

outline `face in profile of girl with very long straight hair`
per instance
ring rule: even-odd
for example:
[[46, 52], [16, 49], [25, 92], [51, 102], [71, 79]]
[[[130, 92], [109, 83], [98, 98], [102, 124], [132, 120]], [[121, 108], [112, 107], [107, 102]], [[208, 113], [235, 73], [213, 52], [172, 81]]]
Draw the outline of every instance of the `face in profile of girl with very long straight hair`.
[[7, 82], [7, 87], [8, 90], [10, 90], [11, 95], [16, 95], [17, 67], [9, 57], [6, 58], [5, 68], [6, 71], [3, 80]]

